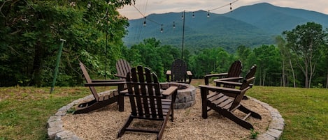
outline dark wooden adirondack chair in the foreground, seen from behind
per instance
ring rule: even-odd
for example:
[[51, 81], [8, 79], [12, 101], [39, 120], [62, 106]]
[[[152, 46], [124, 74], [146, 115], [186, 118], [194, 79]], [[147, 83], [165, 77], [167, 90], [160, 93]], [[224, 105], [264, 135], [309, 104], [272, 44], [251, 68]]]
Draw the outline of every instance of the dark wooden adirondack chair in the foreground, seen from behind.
[[[156, 133], [157, 139], [161, 139], [169, 116], [173, 121], [173, 103], [176, 100], [177, 90], [178, 87], [171, 86], [161, 93], [155, 73], [142, 66], [132, 68], [131, 72], [127, 74], [127, 89], [120, 92], [129, 97], [131, 114], [118, 132], [117, 138], [122, 137], [124, 132], [131, 131]], [[168, 96], [171, 98], [166, 98]], [[137, 126], [129, 127], [134, 118], [157, 120], [162, 122], [162, 126], [159, 130], [139, 129]]]

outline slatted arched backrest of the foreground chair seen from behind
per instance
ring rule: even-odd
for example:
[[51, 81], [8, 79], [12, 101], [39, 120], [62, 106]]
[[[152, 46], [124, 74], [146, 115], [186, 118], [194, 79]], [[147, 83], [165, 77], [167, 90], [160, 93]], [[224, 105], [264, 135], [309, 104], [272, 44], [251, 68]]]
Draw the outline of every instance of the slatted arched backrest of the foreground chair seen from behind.
[[127, 90], [131, 114], [143, 118], [163, 118], [162, 93], [157, 75], [149, 68], [138, 66], [127, 74]]

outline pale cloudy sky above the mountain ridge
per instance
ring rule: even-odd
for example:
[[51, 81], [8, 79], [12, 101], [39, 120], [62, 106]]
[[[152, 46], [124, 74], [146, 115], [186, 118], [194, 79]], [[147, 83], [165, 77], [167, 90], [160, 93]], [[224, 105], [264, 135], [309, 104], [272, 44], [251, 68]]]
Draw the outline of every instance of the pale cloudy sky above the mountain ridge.
[[134, 6], [124, 6], [120, 14], [129, 20], [142, 18], [152, 13], [187, 12], [210, 10], [211, 13], [223, 14], [255, 3], [271, 3], [274, 6], [313, 10], [328, 15], [327, 0], [136, 0]]

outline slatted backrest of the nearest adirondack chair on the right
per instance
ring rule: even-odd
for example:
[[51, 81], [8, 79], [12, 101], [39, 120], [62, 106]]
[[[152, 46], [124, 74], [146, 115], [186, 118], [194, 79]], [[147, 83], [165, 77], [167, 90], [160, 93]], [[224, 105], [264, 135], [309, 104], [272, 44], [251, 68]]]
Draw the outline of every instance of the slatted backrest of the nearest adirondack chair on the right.
[[232, 102], [230, 109], [234, 109], [237, 107], [241, 100], [243, 100], [243, 96], [245, 95], [246, 91], [250, 88], [250, 84], [254, 81], [255, 77], [250, 77], [249, 79], [243, 80], [243, 84], [241, 84], [241, 93], [234, 98], [234, 102]]

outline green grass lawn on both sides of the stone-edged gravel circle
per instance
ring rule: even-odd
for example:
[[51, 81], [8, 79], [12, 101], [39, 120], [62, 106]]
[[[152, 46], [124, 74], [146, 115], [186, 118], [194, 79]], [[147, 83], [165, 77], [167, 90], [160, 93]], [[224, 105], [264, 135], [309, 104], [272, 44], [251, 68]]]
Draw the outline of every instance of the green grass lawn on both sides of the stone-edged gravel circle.
[[[47, 139], [48, 118], [88, 94], [86, 87], [56, 87], [52, 94], [50, 88], [0, 88], [0, 140]], [[328, 139], [328, 89], [254, 86], [246, 94], [280, 111], [281, 139]]]

